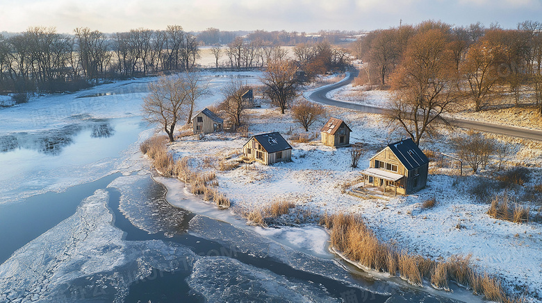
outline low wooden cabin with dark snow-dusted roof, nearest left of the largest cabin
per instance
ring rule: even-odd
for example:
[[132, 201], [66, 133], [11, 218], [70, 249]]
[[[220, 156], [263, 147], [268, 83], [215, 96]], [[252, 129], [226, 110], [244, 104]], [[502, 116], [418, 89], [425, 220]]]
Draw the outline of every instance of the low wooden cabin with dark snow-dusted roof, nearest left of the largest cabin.
[[265, 165], [292, 160], [292, 146], [279, 132], [252, 136], [243, 146], [243, 155]]

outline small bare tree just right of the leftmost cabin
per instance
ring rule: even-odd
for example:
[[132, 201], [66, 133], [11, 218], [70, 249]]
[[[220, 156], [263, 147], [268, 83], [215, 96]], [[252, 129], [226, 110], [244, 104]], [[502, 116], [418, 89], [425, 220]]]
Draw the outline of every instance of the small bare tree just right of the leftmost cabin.
[[250, 89], [243, 82], [236, 80], [231, 81], [228, 85], [222, 88], [224, 102], [220, 105], [221, 109], [227, 114], [235, 128], [241, 125], [243, 119], [243, 111], [246, 108], [243, 100], [243, 95]]

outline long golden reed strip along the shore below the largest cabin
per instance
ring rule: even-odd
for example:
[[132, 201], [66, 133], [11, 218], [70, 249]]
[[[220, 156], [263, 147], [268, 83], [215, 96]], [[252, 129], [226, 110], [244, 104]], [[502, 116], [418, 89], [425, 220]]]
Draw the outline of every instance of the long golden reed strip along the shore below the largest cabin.
[[373, 270], [387, 271], [391, 276], [398, 271], [402, 279], [417, 286], [422, 286], [425, 277], [434, 288], [450, 291], [449, 282], [454, 281], [470, 287], [475, 294], [485, 295], [488, 300], [523, 302], [507, 297], [498, 278], [477, 274], [470, 266], [471, 254], [465, 257], [454, 255], [446, 261], [435, 262], [417, 254], [396, 252], [393, 245], [381, 243], [362, 218], [353, 214], [329, 216], [326, 213], [321, 216], [320, 224], [331, 230], [334, 248], [348, 259]]

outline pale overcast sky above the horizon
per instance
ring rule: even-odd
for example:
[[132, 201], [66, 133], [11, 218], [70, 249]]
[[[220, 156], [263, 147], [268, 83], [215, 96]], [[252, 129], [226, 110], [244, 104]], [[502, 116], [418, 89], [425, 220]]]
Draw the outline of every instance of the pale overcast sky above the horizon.
[[468, 25], [498, 22], [516, 28], [542, 21], [542, 0], [0, 0], [0, 31], [55, 26], [59, 33], [89, 27], [106, 33], [131, 28], [186, 31], [321, 29], [373, 30], [426, 19]]

